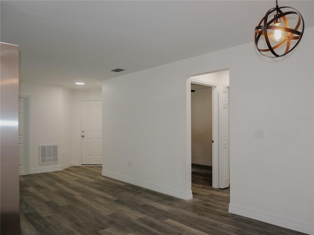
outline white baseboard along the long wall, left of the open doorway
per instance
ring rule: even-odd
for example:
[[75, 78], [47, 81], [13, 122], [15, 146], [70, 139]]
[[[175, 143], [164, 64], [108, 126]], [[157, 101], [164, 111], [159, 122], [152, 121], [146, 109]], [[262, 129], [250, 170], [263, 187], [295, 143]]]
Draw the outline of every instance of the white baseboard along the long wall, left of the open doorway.
[[188, 199], [193, 198], [191, 190], [186, 191], [186, 192], [182, 192], [182, 191], [174, 190], [172, 188], [166, 188], [163, 186], [150, 184], [150, 183], [147, 183], [147, 182], [144, 182], [141, 180], [133, 179], [133, 178], [125, 176], [125, 175], [120, 175], [120, 174], [112, 173], [112, 172], [105, 171], [105, 170], [102, 171], [102, 175], [109, 177], [109, 178], [112, 178], [112, 179], [115, 179], [115, 180], [129, 183], [132, 185], [136, 185], [136, 186], [143, 187], [143, 188], [148, 188], [148, 189], [151, 189], [151, 190], [154, 190], [157, 192], [161, 192], [161, 193], [164, 193], [164, 194], [167, 194], [170, 196], [178, 197], [178, 198], [181, 198], [184, 200], [188, 200]]

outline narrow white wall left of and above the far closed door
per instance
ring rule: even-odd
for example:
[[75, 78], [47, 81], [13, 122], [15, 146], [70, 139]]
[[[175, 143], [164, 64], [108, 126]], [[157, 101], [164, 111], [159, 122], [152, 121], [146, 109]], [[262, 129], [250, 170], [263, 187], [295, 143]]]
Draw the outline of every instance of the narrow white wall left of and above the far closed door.
[[71, 152], [72, 164], [81, 164], [81, 101], [82, 100], [102, 100], [102, 89], [93, 90], [73, 90], [71, 108]]

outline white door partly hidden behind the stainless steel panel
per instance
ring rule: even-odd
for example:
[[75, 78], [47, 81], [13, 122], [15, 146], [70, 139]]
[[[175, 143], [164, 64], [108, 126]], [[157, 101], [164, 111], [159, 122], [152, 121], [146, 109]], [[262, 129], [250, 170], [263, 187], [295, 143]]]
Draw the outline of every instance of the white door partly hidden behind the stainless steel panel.
[[28, 101], [19, 98], [19, 173], [28, 173]]

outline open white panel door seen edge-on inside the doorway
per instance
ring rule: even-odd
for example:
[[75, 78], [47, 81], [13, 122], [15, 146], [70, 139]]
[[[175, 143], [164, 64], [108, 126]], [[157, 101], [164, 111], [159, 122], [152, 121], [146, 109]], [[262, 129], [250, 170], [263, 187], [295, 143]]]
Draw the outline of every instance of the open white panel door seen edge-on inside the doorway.
[[230, 186], [229, 164], [229, 88], [221, 87], [219, 94], [219, 188]]

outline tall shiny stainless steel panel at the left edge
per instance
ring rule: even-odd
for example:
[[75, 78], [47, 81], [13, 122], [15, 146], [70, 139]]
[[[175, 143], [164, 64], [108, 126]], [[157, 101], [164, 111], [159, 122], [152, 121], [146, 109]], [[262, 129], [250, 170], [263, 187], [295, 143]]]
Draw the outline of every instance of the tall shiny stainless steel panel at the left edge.
[[0, 44], [1, 235], [20, 235], [18, 159], [19, 47]]

